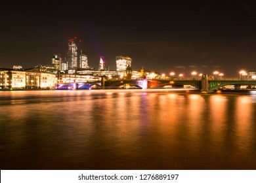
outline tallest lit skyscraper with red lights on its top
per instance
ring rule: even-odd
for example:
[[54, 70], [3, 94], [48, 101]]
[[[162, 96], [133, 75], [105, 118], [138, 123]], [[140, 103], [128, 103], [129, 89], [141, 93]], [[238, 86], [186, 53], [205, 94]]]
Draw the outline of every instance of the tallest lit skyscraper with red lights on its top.
[[68, 69], [76, 69], [78, 66], [77, 65], [77, 46], [74, 41], [75, 39], [70, 39], [68, 41]]

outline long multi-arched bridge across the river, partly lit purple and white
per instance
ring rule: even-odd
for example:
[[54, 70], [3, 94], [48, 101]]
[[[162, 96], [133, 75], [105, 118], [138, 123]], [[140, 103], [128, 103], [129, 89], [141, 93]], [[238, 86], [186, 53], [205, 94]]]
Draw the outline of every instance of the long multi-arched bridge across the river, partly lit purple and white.
[[232, 86], [235, 90], [240, 90], [241, 86], [247, 89], [256, 88], [256, 80], [245, 79], [213, 79], [209, 80], [207, 75], [202, 79], [169, 79], [169, 80], [149, 80], [141, 78], [137, 80], [105, 80], [86, 83], [58, 84], [56, 90], [90, 90], [90, 89], [150, 89], [150, 88], [194, 88], [202, 92], [211, 93], [224, 86]]

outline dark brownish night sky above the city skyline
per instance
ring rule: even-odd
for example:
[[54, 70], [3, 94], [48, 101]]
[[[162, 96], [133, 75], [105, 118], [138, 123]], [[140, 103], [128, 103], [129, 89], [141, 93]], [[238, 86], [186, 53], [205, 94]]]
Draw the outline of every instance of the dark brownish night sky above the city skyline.
[[253, 1], [35, 1], [1, 5], [0, 16], [0, 67], [50, 64], [77, 37], [96, 69], [100, 56], [111, 70], [129, 56], [133, 70], [166, 75], [256, 71]]

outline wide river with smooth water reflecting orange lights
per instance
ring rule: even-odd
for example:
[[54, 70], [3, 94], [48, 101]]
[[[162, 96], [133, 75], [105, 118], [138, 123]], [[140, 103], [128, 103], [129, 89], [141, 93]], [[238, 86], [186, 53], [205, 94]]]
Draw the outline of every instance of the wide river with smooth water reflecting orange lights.
[[256, 169], [256, 92], [0, 92], [1, 169]]

